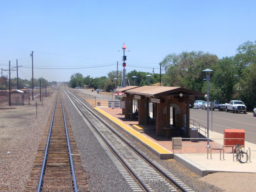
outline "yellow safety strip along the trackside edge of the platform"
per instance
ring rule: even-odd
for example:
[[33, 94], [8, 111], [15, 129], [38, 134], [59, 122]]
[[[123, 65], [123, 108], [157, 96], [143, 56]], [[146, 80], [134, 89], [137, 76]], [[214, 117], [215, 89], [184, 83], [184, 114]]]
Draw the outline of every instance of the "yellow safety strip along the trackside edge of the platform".
[[110, 114], [106, 113], [105, 111], [94, 107], [95, 110], [103, 114], [104, 116], [108, 117], [110, 120], [114, 121], [116, 124], [118, 124], [120, 127], [134, 135], [136, 138], [140, 139], [142, 142], [146, 143], [148, 146], [152, 147], [154, 150], [156, 150], [159, 154], [172, 154], [169, 150], [166, 148], [162, 147], [158, 143], [155, 143], [153, 140], [147, 138], [146, 136], [140, 134], [138, 131], [135, 131], [133, 128], [129, 127], [128, 125], [124, 124], [120, 120], [114, 118]]

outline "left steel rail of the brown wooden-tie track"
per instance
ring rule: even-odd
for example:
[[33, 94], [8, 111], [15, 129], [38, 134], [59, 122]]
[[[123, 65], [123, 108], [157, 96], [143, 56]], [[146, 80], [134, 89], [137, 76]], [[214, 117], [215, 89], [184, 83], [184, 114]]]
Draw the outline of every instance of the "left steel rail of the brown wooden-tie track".
[[52, 113], [52, 121], [51, 121], [50, 128], [49, 128], [49, 135], [48, 135], [47, 144], [46, 144], [46, 148], [45, 148], [44, 161], [43, 161], [43, 165], [42, 165], [42, 170], [41, 170], [41, 174], [40, 174], [40, 179], [39, 179], [37, 192], [40, 192], [41, 187], [42, 187], [42, 181], [43, 181], [43, 177], [44, 177], [46, 159], [47, 159], [47, 155], [48, 155], [48, 147], [49, 147], [49, 143], [50, 143], [50, 135], [51, 135], [51, 132], [52, 132], [52, 125], [53, 125], [53, 119], [54, 119], [54, 114], [55, 114], [55, 109], [56, 109], [57, 97], [58, 97], [58, 95], [56, 94], [54, 109], [53, 109], [53, 113]]

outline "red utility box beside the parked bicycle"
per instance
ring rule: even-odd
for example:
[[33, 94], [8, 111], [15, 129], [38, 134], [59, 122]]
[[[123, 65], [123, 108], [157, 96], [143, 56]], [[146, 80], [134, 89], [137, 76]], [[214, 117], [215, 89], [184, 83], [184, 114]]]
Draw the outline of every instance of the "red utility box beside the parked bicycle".
[[[237, 139], [228, 139], [228, 138], [237, 138]], [[244, 146], [244, 139], [245, 139], [244, 129], [224, 129], [224, 145], [236, 146], [239, 143], [241, 146]]]

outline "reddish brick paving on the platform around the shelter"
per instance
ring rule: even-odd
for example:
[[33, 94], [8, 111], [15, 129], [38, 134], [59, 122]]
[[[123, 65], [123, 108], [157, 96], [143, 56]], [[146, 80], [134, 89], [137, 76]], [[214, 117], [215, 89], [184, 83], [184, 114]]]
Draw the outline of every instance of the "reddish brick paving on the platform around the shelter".
[[[137, 121], [131, 121], [129, 119], [125, 119], [124, 115], [122, 114], [122, 109], [120, 108], [100, 108], [101, 110], [105, 111], [106, 113], [110, 114], [111, 116], [117, 118], [118, 120], [122, 121], [123, 123], [127, 124], [128, 126], [132, 127], [133, 124], [138, 125]], [[147, 127], [147, 125], [143, 125]], [[152, 125], [149, 125], [152, 126]], [[158, 143], [162, 147], [165, 147], [167, 150], [172, 151], [172, 138], [166, 139], [165, 136], [156, 136], [155, 132], [147, 132], [141, 133], [142, 135], [146, 136], [147, 138], [153, 140], [154, 142]], [[185, 146], [188, 145], [188, 146]], [[219, 153], [219, 149], [221, 144], [216, 142], [210, 142], [212, 146], [212, 153]], [[190, 142], [189, 140], [182, 140], [182, 150], [174, 150], [174, 153], [207, 153], [207, 141], [199, 141], [199, 142]], [[225, 153], [232, 153], [231, 147], [225, 147]]]

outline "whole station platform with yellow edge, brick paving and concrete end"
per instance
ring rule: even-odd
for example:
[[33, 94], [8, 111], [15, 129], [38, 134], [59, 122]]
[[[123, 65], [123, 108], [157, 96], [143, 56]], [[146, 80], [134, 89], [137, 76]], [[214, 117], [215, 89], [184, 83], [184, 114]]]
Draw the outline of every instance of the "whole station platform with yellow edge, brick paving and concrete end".
[[223, 153], [221, 153], [222, 160], [220, 160], [220, 151], [222, 152], [220, 147], [223, 145], [223, 134], [210, 132], [209, 138], [214, 138], [210, 141], [211, 146], [213, 146], [212, 158], [210, 158], [209, 154], [207, 159], [206, 141], [199, 140], [199, 142], [191, 142], [190, 140], [182, 140], [182, 149], [172, 150], [172, 139], [167, 139], [165, 136], [156, 136], [154, 126], [152, 125], [142, 126], [138, 125], [138, 121], [136, 120], [125, 119], [122, 109], [98, 107], [94, 109], [109, 118], [109, 120], [122, 128], [160, 159], [174, 158], [199, 176], [205, 176], [208, 173], [214, 172], [256, 173], [256, 144], [245, 141], [245, 151], [248, 147], [251, 149], [251, 162], [248, 160], [247, 163], [240, 163], [236, 159], [233, 161], [231, 147], [225, 147], [225, 160], [223, 160]]

